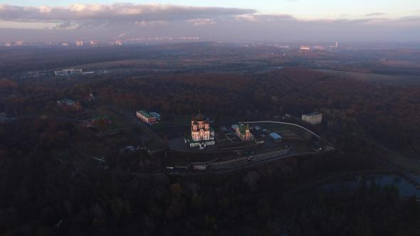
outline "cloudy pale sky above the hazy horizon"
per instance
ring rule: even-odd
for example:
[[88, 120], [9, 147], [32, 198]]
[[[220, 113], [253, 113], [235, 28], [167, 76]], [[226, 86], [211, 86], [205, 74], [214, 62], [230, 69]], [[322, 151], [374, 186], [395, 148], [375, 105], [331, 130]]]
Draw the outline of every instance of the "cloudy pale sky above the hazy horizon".
[[420, 41], [419, 0], [0, 0], [0, 41]]

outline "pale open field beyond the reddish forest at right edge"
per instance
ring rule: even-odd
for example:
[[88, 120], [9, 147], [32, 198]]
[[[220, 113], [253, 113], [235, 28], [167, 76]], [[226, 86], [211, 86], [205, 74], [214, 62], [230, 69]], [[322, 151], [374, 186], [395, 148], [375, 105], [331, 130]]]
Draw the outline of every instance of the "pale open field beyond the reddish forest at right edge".
[[420, 77], [414, 75], [382, 75], [374, 73], [357, 73], [342, 70], [315, 70], [320, 73], [335, 75], [339, 77], [352, 78], [354, 80], [366, 82], [386, 82], [386, 83], [408, 83], [420, 84]]

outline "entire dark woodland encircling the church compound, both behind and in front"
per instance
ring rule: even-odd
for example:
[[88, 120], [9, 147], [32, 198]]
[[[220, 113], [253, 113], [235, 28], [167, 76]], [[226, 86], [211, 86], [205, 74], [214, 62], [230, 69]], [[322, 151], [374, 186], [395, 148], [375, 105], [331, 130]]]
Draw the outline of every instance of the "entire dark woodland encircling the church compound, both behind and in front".
[[[63, 65], [68, 62], [51, 68]], [[300, 189], [337, 173], [386, 168], [389, 153], [368, 139], [419, 156], [419, 85], [302, 67], [28, 80], [15, 76], [18, 70], [0, 77], [0, 112], [13, 118], [0, 122], [0, 235], [420, 235], [420, 206], [414, 196], [401, 200], [396, 186]], [[95, 102], [85, 99], [90, 93]], [[216, 122], [317, 111], [324, 119], [311, 129], [336, 151], [216, 176], [165, 176], [164, 163], [175, 158], [170, 151], [120, 152], [145, 134], [133, 128], [100, 136], [75, 122], [83, 114], [57, 107], [64, 97], [80, 101], [86, 113], [147, 109], [169, 119], [201, 109]], [[94, 154], [107, 168], [89, 158]]]

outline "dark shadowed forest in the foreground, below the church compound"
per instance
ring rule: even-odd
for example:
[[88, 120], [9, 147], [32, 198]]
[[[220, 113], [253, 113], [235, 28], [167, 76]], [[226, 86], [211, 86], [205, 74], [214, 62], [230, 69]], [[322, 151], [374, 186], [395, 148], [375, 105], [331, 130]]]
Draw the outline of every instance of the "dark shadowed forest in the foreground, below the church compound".
[[4, 235], [419, 234], [419, 205], [415, 198], [400, 200], [395, 186], [361, 186], [339, 195], [294, 191], [329, 173], [377, 166], [384, 154], [357, 139], [322, 156], [226, 175], [170, 177], [125, 172], [125, 162], [135, 166], [132, 160], [147, 159], [143, 154], [110, 150], [108, 171], [80, 158], [61, 161], [57, 152], [85, 136], [80, 132], [49, 120], [1, 127]]

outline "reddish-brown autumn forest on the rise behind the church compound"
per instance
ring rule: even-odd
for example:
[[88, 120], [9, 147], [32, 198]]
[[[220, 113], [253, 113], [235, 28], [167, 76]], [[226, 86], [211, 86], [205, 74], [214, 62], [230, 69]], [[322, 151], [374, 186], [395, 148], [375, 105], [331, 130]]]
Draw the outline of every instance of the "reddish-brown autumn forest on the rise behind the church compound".
[[[103, 104], [126, 110], [155, 109], [164, 115], [209, 114], [261, 120], [313, 112], [325, 131], [372, 136], [408, 156], [420, 154], [420, 86], [356, 82], [304, 68], [256, 75], [182, 74], [85, 82], [65, 90], [80, 97], [90, 90]], [[81, 97], [80, 97], [81, 99]]]

